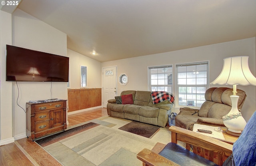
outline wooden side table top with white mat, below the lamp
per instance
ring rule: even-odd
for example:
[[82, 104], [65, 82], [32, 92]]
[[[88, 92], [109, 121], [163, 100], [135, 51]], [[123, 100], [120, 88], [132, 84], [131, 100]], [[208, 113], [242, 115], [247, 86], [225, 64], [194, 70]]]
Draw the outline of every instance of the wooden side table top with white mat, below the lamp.
[[[201, 129], [204, 129], [204, 130], [210, 130], [210, 131], [213, 132], [212, 134], [214, 135], [214, 134], [216, 133], [216, 131], [214, 130], [214, 128], [217, 128], [217, 127], [214, 127], [214, 126], [206, 126], [206, 125], [202, 125], [202, 124], [194, 124], [193, 131], [194, 131], [194, 132], [198, 132], [198, 131], [197, 131], [198, 128], [201, 128]], [[226, 127], [221, 126], [220, 128], [224, 131], [224, 132], [222, 132], [223, 137], [222, 137], [222, 136], [220, 136], [220, 137], [218, 137], [218, 136], [213, 136], [212, 134], [204, 134], [204, 135], [210, 136], [210, 137], [213, 137], [213, 138], [216, 138], [216, 139], [218, 139], [218, 140], [227, 142], [227, 143], [229, 143], [229, 144], [234, 144], [234, 142], [236, 142], [236, 140], [238, 139], [238, 137], [236, 137], [236, 136], [231, 136], [231, 135], [227, 134], [227, 133], [226, 133], [226, 130], [227, 130]], [[202, 132], [198, 132], [198, 133], [203, 134]], [[221, 134], [221, 133], [216, 133], [216, 134]]]

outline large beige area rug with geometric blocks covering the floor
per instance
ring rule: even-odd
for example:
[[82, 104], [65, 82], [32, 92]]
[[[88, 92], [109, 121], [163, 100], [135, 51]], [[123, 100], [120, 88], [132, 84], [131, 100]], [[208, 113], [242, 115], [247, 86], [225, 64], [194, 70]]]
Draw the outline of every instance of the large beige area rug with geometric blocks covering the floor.
[[94, 127], [64, 136], [43, 148], [63, 166], [141, 166], [136, 158], [138, 152], [152, 149], [158, 142], [167, 144], [171, 134], [160, 128], [154, 136], [146, 138], [119, 129], [130, 122], [112, 117], [92, 120], [90, 124]]

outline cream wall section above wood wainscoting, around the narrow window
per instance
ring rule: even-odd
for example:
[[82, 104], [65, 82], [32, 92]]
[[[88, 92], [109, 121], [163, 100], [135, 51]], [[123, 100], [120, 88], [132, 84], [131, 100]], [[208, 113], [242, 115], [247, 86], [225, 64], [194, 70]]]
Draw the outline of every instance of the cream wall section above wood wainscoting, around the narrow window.
[[80, 88], [80, 66], [87, 66], [87, 87], [101, 88], [101, 64], [97, 60], [74, 52], [68, 49], [68, 57], [70, 57], [70, 87], [71, 89]]

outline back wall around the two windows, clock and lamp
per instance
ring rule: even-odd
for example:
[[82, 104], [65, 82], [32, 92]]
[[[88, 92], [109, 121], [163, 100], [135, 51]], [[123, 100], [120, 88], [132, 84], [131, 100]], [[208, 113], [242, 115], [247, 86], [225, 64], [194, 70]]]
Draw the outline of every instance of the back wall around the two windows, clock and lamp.
[[[210, 82], [212, 82], [220, 74], [223, 67], [223, 58], [230, 56], [249, 56], [249, 67], [252, 74], [256, 73], [256, 51], [255, 37], [232, 42], [224, 42], [178, 50], [172, 52], [164, 52], [161, 54], [153, 54], [140, 56], [135, 58], [127, 58], [122, 60], [114, 60], [103, 62], [103, 67], [118, 66], [118, 77], [122, 73], [126, 73], [129, 82], [126, 86], [118, 84], [118, 94], [122, 90], [148, 90], [148, 66], [167, 65], [187, 62], [198, 62], [209, 60]], [[173, 70], [175, 73], [175, 68]], [[175, 79], [175, 78], [174, 78]], [[174, 82], [176, 80], [173, 80]], [[218, 85], [210, 85], [210, 87], [221, 87]], [[226, 86], [232, 88], [232, 86]], [[238, 89], [244, 90], [247, 94], [246, 101], [242, 108], [242, 115], [246, 121], [256, 110], [256, 88], [255, 86], [239, 86]], [[174, 95], [175, 87], [174, 87]]]

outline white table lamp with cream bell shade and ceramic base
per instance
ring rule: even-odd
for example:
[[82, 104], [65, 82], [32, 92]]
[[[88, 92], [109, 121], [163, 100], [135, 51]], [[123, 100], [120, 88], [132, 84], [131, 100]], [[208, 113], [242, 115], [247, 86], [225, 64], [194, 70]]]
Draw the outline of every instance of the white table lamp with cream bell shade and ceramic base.
[[224, 58], [224, 65], [220, 75], [211, 84], [233, 85], [233, 95], [230, 96], [232, 108], [230, 112], [223, 116], [223, 123], [228, 128], [227, 134], [239, 136], [246, 126], [246, 121], [238, 111], [238, 98], [236, 95], [236, 85], [255, 85], [256, 78], [252, 75], [249, 65], [248, 56], [234, 56]]

